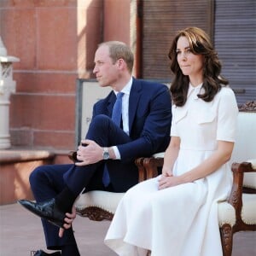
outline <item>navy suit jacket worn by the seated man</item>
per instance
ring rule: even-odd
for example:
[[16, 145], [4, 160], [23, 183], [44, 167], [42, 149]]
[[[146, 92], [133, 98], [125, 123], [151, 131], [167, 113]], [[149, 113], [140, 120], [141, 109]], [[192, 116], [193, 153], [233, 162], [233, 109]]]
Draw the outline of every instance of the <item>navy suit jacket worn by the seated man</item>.
[[[114, 92], [93, 108], [97, 114], [112, 115], [116, 100]], [[138, 182], [137, 157], [165, 151], [170, 142], [172, 103], [164, 84], [133, 79], [129, 98], [129, 131], [131, 142], [117, 145], [121, 160], [108, 160], [108, 172], [113, 189], [123, 192]]]

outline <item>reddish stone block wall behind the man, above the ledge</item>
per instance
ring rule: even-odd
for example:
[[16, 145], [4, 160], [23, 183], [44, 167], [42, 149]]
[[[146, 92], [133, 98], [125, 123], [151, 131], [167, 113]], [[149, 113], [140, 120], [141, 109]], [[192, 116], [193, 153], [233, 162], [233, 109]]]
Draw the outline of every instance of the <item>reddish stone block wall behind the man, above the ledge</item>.
[[129, 5], [130, 0], [0, 1], [3, 44], [20, 58], [10, 104], [13, 147], [75, 147], [76, 79], [94, 78], [94, 53], [105, 38], [129, 43]]

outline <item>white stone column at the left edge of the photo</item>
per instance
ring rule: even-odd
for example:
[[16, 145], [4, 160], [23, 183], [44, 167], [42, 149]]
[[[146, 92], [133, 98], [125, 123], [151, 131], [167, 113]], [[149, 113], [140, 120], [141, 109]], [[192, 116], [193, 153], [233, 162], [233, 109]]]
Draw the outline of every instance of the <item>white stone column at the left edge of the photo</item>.
[[16, 82], [13, 80], [13, 62], [20, 59], [8, 56], [0, 37], [0, 148], [10, 148], [9, 136], [9, 98], [15, 93]]

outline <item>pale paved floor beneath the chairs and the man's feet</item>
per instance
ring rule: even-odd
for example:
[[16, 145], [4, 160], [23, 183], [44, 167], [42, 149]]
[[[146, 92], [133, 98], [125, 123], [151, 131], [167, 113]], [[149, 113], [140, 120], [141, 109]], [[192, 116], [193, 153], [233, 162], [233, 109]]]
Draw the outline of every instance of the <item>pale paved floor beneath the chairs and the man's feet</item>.
[[[109, 224], [76, 218], [73, 227], [81, 256], [116, 255], [103, 243]], [[1, 206], [0, 256], [30, 256], [38, 248], [45, 249], [40, 219], [17, 204]], [[256, 255], [256, 232], [236, 234], [232, 256], [253, 255]]]

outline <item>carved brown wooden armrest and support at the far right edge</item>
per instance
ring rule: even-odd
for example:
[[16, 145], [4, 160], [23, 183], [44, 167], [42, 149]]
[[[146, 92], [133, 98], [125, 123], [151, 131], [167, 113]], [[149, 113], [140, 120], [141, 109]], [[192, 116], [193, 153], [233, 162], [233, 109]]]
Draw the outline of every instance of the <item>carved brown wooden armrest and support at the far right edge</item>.
[[256, 172], [253, 166], [249, 162], [233, 163], [231, 166], [233, 172], [233, 185], [230, 193], [229, 203], [235, 208], [236, 221], [241, 220], [241, 208], [242, 208], [242, 185], [243, 176], [245, 172]]

